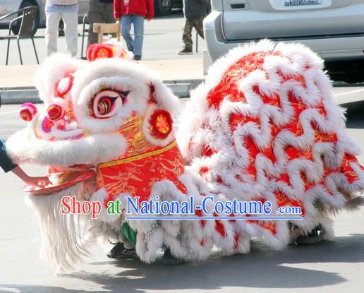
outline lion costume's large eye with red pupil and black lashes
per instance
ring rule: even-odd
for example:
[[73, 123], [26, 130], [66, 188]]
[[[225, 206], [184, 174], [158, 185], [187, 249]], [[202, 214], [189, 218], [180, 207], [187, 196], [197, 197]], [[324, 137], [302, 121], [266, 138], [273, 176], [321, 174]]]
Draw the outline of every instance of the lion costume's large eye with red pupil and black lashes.
[[92, 115], [99, 119], [114, 116], [126, 102], [128, 94], [129, 91], [102, 90], [93, 99]]

